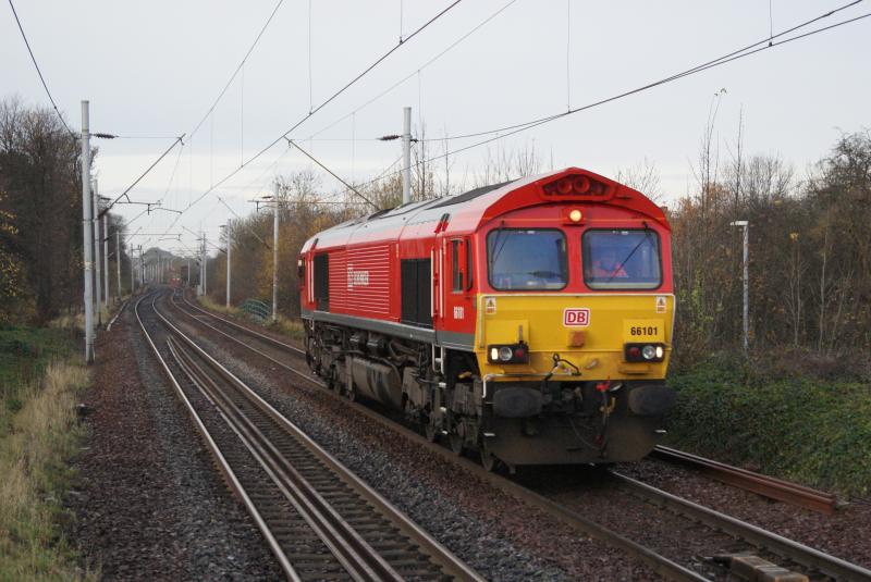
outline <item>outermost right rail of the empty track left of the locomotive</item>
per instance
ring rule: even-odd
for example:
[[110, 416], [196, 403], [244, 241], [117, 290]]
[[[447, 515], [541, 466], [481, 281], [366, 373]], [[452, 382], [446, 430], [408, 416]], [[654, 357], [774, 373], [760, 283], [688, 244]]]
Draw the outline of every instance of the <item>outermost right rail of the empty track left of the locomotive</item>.
[[[212, 358], [209, 354], [207, 354], [203, 348], [200, 348], [191, 337], [188, 337], [172, 322], [170, 322], [169, 319], [165, 315], [163, 315], [160, 312], [160, 310], [158, 310], [156, 307], [155, 307], [155, 313], [157, 314], [158, 318], [160, 318], [161, 322], [163, 323], [164, 326], [167, 326], [170, 333], [173, 334], [184, 345], [186, 345], [194, 354], [196, 354], [196, 356], [201, 361], [204, 361], [210, 370], [214, 371], [218, 375], [221, 376], [222, 380], [224, 380], [228, 384], [232, 385], [238, 392], [238, 394], [242, 395], [248, 403], [250, 403], [261, 412], [267, 414], [277, 425], [280, 426], [282, 431], [284, 431], [286, 434], [291, 435], [293, 438], [299, 442], [308, 451], [310, 451], [318, 459], [318, 461], [327, 466], [328, 469], [333, 474], [338, 475], [338, 478], [343, 483], [348, 485], [355, 493], [357, 493], [370, 506], [372, 506], [380, 516], [387, 518], [388, 521], [392, 523], [394, 527], [396, 527], [403, 534], [405, 534], [408, 540], [414, 542], [419, 548], [419, 550], [429, 558], [431, 558], [433, 562], [437, 566], [439, 566], [444, 573], [457, 580], [475, 580], [475, 581], [483, 580], [479, 574], [477, 574], [467, 565], [465, 565], [462, 560], [459, 560], [453, 553], [451, 553], [447, 548], [441, 545], [441, 543], [439, 543], [437, 540], [430, 536], [426, 531], [424, 531], [420, 527], [418, 527], [410, 519], [408, 519], [404, 513], [402, 513], [398, 509], [396, 509], [390, 501], [383, 498], [377, 491], [375, 491], [372, 487], [364, 483], [358, 476], [356, 476], [343, 465], [341, 465], [334, 457], [332, 457], [322, 447], [320, 447], [310, 437], [308, 437], [308, 435], [306, 435], [300, 429], [298, 429], [295, 424], [293, 424], [279, 411], [277, 411], [271, 405], [269, 405], [269, 403], [267, 403], [263, 398], [261, 398], [255, 391], [248, 387], [237, 376], [235, 376], [225, 367], [223, 367], [220, 362], [218, 362], [214, 358]], [[201, 368], [199, 373], [195, 371], [195, 374], [197, 374], [200, 377], [200, 381], [208, 384], [208, 381], [203, 380], [203, 373], [204, 372], [201, 371]], [[212, 398], [217, 401], [219, 399], [222, 399], [223, 397], [213, 395]], [[230, 412], [232, 412], [232, 410]], [[224, 410], [224, 414], [226, 416], [229, 416], [230, 412]], [[250, 431], [252, 428], [249, 426], [248, 430]], [[269, 444], [266, 443], [263, 443], [262, 445], [266, 448], [269, 448], [270, 446]], [[380, 558], [378, 557], [372, 557], [369, 559], [369, 564], [372, 564], [372, 560], [377, 561]], [[390, 578], [388, 575], [389, 570], [382, 569], [381, 572], [383, 573], [377, 575], [373, 579]]]

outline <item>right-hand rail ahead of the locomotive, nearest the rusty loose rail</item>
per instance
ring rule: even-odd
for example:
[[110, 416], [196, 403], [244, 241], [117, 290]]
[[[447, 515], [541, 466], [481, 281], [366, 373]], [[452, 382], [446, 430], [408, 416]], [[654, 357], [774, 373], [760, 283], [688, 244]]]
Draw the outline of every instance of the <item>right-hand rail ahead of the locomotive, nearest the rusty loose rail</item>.
[[778, 556], [789, 558], [812, 570], [819, 570], [836, 580], [871, 581], [871, 570], [800, 544], [752, 523], [738, 520], [720, 511], [695, 504], [668, 492], [659, 490], [629, 476], [611, 471], [622, 485], [638, 496], [690, 519], [698, 520], [748, 543], [764, 547]]

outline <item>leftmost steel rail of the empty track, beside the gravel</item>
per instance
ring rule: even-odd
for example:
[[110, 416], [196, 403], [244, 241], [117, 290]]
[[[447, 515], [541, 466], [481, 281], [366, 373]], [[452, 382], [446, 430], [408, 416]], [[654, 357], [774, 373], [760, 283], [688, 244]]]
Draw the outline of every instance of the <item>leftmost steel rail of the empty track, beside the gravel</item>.
[[139, 314], [139, 305], [151, 295], [156, 295], [156, 293], [152, 292], [149, 295], [144, 295], [143, 297], [139, 298], [139, 300], [136, 301], [136, 305], [134, 306], [134, 313], [136, 314], [136, 321], [139, 323], [139, 327], [143, 331], [145, 340], [148, 343], [149, 346], [151, 346], [151, 350], [154, 351], [155, 357], [157, 358], [157, 361], [160, 364], [160, 368], [163, 370], [163, 373], [167, 375], [170, 383], [172, 384], [172, 388], [175, 392], [175, 396], [179, 398], [179, 400], [181, 400], [181, 403], [184, 406], [184, 409], [187, 411], [187, 414], [193, 420], [194, 426], [196, 428], [197, 432], [203, 438], [203, 442], [206, 444], [206, 448], [208, 448], [209, 453], [212, 456], [212, 459], [214, 459], [214, 462], [218, 466], [218, 470], [224, 476], [224, 481], [230, 487], [230, 491], [245, 506], [245, 509], [248, 511], [248, 515], [254, 520], [255, 525], [257, 525], [257, 529], [260, 530], [260, 533], [266, 540], [267, 545], [269, 545], [270, 550], [275, 556], [275, 559], [279, 562], [279, 567], [284, 572], [284, 575], [287, 578], [287, 580], [291, 580], [292, 582], [302, 582], [302, 578], [296, 572], [294, 567], [291, 566], [291, 562], [287, 560], [287, 557], [284, 555], [284, 552], [281, 549], [281, 545], [279, 545], [278, 540], [275, 540], [275, 536], [272, 534], [272, 531], [267, 525], [266, 520], [263, 520], [263, 517], [257, 510], [257, 506], [255, 506], [254, 501], [248, 496], [245, 488], [242, 486], [242, 483], [240, 483], [235, 472], [230, 467], [230, 463], [224, 458], [220, 448], [218, 448], [218, 444], [214, 442], [211, 434], [206, 429], [206, 425], [203, 423], [203, 419], [200, 419], [196, 409], [191, 404], [191, 400], [185, 395], [184, 391], [182, 389], [182, 386], [179, 385], [175, 375], [172, 373], [170, 367], [167, 364], [167, 361], [163, 359], [163, 356], [161, 356], [160, 350], [157, 348], [154, 340], [151, 339], [151, 334], [149, 334], [148, 330], [146, 330], [145, 322], [143, 322], [143, 319]]

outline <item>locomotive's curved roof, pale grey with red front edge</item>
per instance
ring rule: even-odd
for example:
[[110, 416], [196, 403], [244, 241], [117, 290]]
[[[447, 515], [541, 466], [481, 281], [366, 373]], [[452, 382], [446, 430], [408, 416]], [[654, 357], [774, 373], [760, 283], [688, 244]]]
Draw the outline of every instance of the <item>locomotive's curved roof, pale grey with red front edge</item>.
[[[459, 232], [474, 231], [478, 225], [500, 214], [518, 208], [553, 203], [562, 200], [545, 199], [542, 196], [544, 185], [552, 184], [565, 176], [589, 176], [589, 179], [606, 185], [610, 196], [606, 200], [584, 199], [582, 203], [598, 202], [624, 207], [640, 212], [668, 228], [662, 210], [641, 193], [618, 184], [587, 170], [567, 168], [555, 172], [527, 176], [510, 182], [491, 184], [468, 190], [456, 196], [409, 202], [395, 208], [379, 210], [367, 216], [353, 219], [321, 231], [306, 240], [303, 251], [312, 247], [326, 248], [343, 246], [356, 240], [375, 242], [378, 239], [395, 240], [403, 231], [414, 225], [432, 223], [433, 225], [449, 214], [449, 230]], [[531, 188], [525, 188], [530, 186]], [[536, 187], [538, 186], [538, 187]], [[571, 198], [567, 198], [571, 200]], [[432, 233], [432, 230], [428, 230]]]

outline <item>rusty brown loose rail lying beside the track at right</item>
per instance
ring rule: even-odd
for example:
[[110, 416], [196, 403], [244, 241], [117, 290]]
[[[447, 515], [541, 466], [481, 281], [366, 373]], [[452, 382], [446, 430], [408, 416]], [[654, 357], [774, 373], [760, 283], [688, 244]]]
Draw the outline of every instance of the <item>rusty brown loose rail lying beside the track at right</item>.
[[755, 473], [739, 467], [732, 467], [691, 453], [657, 446], [651, 456], [668, 462], [692, 467], [717, 481], [806, 509], [832, 513], [841, 507], [837, 497], [831, 493]]

